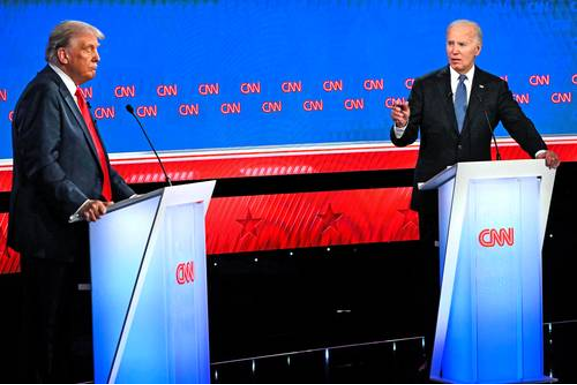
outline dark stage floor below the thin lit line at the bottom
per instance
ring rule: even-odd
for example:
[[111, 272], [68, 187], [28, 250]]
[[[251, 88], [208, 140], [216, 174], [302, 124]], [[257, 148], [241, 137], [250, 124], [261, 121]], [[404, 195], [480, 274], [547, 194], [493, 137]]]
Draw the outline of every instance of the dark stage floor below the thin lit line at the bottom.
[[[577, 321], [546, 324], [545, 338], [545, 373], [576, 383]], [[423, 352], [422, 339], [409, 338], [215, 362], [212, 383], [429, 383]]]

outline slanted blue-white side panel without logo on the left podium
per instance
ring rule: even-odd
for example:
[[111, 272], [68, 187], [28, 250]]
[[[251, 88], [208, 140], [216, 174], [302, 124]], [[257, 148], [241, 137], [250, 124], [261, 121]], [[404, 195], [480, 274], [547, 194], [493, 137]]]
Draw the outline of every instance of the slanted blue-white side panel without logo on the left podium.
[[[90, 225], [95, 383], [106, 384], [160, 196]], [[118, 229], [122, 230], [122, 236]], [[111, 252], [114, 250], [114, 252]], [[104, 282], [105, 284], [100, 284]]]

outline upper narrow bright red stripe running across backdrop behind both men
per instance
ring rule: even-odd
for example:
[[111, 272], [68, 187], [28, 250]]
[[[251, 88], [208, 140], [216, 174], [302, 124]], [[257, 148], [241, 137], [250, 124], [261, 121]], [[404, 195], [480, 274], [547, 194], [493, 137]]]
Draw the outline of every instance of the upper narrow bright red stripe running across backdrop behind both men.
[[[577, 161], [577, 139], [574, 137], [547, 138], [550, 149], [564, 162]], [[500, 140], [505, 160], [527, 159], [527, 154], [514, 142]], [[493, 151], [494, 154], [494, 151]], [[163, 154], [166, 169], [173, 181], [192, 181], [259, 176], [282, 176], [338, 172], [398, 170], [414, 168], [418, 146], [395, 148], [391, 144], [374, 146], [317, 147], [301, 150], [269, 150], [222, 153]], [[116, 170], [128, 183], [155, 183], [164, 176], [155, 159], [149, 155], [133, 157], [112, 156]], [[494, 157], [494, 155], [493, 155]], [[11, 167], [0, 167], [0, 192], [10, 191]]]

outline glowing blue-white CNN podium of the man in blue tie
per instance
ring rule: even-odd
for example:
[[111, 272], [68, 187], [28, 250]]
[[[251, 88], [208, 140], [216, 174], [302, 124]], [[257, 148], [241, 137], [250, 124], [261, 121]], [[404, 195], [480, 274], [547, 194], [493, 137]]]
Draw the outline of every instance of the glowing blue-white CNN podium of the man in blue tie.
[[439, 190], [441, 299], [431, 379], [552, 382], [544, 375], [541, 252], [555, 181], [544, 160], [460, 163]]

